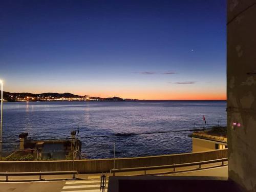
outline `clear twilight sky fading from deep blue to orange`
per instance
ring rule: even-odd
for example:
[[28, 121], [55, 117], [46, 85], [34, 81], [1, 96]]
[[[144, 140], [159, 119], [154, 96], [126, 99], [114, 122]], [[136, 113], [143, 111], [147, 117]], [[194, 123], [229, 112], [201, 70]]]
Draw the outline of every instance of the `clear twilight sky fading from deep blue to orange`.
[[8, 92], [226, 99], [226, 1], [2, 1]]

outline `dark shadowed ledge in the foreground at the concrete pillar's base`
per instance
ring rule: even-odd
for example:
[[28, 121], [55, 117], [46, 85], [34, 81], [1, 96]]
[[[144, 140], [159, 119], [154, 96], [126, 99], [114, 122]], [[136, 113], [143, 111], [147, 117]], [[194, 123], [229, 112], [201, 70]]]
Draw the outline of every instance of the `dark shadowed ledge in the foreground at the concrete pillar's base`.
[[223, 177], [110, 177], [109, 192], [128, 191], [242, 191], [239, 186]]

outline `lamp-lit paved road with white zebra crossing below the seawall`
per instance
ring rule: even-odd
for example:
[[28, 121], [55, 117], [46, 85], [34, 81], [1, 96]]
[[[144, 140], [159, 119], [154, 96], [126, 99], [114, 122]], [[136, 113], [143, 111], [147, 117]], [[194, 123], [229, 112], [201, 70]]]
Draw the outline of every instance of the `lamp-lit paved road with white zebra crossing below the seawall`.
[[[202, 167], [203, 168], [203, 167]], [[159, 172], [158, 170], [157, 172]], [[166, 171], [166, 170], [165, 170]], [[120, 175], [130, 175], [131, 173], [121, 173]], [[132, 173], [133, 174], [141, 174]], [[33, 181], [38, 180], [38, 176], [30, 177], [9, 177], [10, 182], [3, 182], [5, 177], [0, 177], [0, 192], [99, 192], [100, 191], [100, 176], [101, 174], [80, 174], [77, 176], [80, 180], [63, 180], [64, 178], [71, 178], [71, 175], [64, 176], [44, 176], [42, 179], [55, 179], [57, 181]], [[108, 174], [110, 176], [110, 174]], [[162, 176], [213, 176], [213, 177], [227, 177], [228, 166], [190, 171], [186, 173], [172, 173]], [[13, 180], [24, 180], [23, 182], [13, 182]], [[106, 180], [108, 184], [108, 178]], [[108, 185], [107, 185], [108, 186]], [[108, 187], [106, 187], [107, 191]]]

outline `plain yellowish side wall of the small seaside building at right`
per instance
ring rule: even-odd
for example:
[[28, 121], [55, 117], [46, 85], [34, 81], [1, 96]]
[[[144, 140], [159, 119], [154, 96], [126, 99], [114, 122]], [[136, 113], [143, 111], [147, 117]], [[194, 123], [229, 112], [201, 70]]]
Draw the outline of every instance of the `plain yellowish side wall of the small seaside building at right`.
[[215, 150], [215, 143], [207, 140], [192, 138], [193, 150], [192, 152], [203, 152]]

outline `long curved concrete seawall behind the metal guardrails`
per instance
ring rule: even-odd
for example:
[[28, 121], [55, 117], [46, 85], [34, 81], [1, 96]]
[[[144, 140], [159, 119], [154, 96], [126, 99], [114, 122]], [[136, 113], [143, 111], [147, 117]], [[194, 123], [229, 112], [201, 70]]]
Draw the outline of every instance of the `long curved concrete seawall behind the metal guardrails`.
[[[118, 158], [116, 168], [157, 166], [188, 162], [206, 161], [227, 157], [227, 150], [199, 153], [162, 155], [138, 158]], [[74, 169], [79, 173], [110, 172], [113, 159], [75, 160]], [[72, 161], [1, 161], [0, 172], [39, 172], [72, 170]]]

